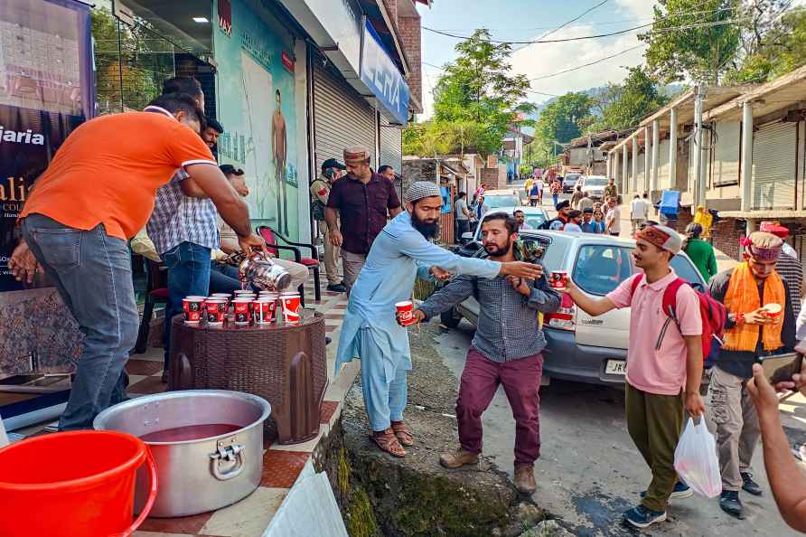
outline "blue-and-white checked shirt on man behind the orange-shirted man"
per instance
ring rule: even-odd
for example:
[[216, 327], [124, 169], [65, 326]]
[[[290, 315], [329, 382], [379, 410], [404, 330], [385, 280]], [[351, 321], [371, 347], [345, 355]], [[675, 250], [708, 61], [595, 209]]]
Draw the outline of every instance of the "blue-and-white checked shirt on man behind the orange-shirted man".
[[156, 191], [154, 212], [148, 220], [148, 236], [160, 255], [183, 242], [192, 242], [215, 250], [220, 244], [218, 215], [209, 198], [192, 198], [182, 192], [181, 182], [188, 177], [178, 171]]

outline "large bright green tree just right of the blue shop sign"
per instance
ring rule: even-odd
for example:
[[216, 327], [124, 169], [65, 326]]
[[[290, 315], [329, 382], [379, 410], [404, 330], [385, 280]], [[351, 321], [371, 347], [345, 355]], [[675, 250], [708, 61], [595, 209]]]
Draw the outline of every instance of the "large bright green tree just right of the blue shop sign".
[[458, 56], [445, 65], [434, 90], [434, 120], [455, 123], [460, 131], [478, 126], [473, 145], [481, 155], [498, 151], [507, 127], [528, 125], [525, 115], [535, 109], [526, 100], [529, 79], [511, 73], [511, 45], [489, 39], [490, 32], [479, 29], [457, 44]]

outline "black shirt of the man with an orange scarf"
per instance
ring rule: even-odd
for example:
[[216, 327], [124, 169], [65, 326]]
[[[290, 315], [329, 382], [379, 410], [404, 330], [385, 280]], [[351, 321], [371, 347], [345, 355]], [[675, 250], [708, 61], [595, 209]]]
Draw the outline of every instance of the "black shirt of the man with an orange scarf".
[[[730, 284], [730, 277], [733, 276], [734, 269], [723, 270], [708, 282], [708, 290], [711, 297], [714, 297], [719, 302], [725, 303], [725, 295], [727, 287]], [[781, 341], [783, 347], [774, 351], [773, 353], [791, 353], [794, 350], [797, 339], [795, 338], [795, 314], [792, 311], [792, 303], [789, 300], [789, 284], [786, 279], [781, 278], [783, 281], [783, 296], [787, 298], [786, 304], [783, 306], [783, 327], [781, 329]], [[760, 297], [759, 303], [764, 304], [764, 280], [758, 284], [758, 296]], [[728, 313], [736, 314], [736, 312], [728, 311]], [[728, 324], [732, 327], [733, 324]], [[722, 349], [719, 351], [717, 358], [717, 365], [719, 369], [724, 372], [736, 375], [743, 379], [750, 379], [753, 376], [753, 364], [755, 363], [756, 356], [764, 355], [764, 344], [762, 341], [762, 331], [758, 331], [758, 343], [755, 347], [755, 352], [747, 351], [728, 351]]]

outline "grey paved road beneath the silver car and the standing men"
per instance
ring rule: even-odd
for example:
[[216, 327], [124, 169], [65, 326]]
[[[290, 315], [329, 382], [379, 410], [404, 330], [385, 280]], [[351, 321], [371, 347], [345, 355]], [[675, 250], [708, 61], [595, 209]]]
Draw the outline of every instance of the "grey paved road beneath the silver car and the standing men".
[[[437, 337], [437, 352], [457, 378], [472, 336], [471, 325], [463, 321], [457, 329]], [[541, 390], [541, 396], [542, 456], [536, 465], [535, 502], [568, 523], [577, 535], [638, 534], [621, 525], [621, 513], [638, 502], [638, 494], [651, 476], [626, 431], [623, 391], [555, 381]], [[792, 400], [783, 406], [784, 425], [791, 428], [787, 429], [790, 438], [806, 439], [806, 400], [800, 396]], [[484, 454], [494, 457], [501, 470], [512, 478], [514, 421], [502, 390], [483, 419]], [[742, 495], [745, 521], [723, 513], [717, 500], [694, 496], [672, 503], [670, 522], [653, 526], [651, 534], [686, 537], [797, 534], [783, 523], [773, 504], [761, 448], [756, 451], [754, 469], [767, 492], [761, 498]]]

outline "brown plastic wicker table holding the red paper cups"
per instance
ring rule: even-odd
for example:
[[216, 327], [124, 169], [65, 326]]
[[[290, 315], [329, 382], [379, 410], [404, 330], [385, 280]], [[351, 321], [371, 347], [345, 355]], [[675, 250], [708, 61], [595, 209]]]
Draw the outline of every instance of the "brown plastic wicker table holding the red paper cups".
[[296, 444], [319, 433], [327, 388], [324, 316], [300, 325], [185, 325], [173, 317], [168, 390], [245, 391], [271, 404], [266, 433]]

